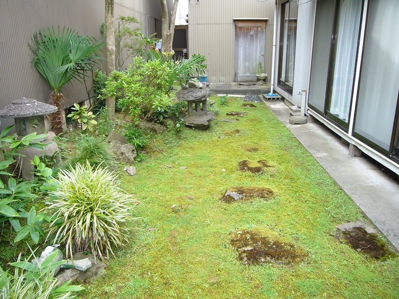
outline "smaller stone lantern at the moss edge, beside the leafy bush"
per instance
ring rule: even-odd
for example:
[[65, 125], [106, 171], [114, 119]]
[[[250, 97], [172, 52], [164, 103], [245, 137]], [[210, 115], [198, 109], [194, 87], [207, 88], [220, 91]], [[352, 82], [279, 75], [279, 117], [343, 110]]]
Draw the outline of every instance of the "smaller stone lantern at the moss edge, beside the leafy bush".
[[191, 126], [199, 129], [207, 129], [209, 123], [215, 120], [213, 112], [208, 111], [207, 99], [211, 96], [209, 89], [209, 83], [199, 83], [191, 85], [188, 82], [187, 89], [181, 89], [176, 92], [176, 96], [179, 101], [187, 101], [188, 115], [184, 117], [184, 123], [186, 126]]

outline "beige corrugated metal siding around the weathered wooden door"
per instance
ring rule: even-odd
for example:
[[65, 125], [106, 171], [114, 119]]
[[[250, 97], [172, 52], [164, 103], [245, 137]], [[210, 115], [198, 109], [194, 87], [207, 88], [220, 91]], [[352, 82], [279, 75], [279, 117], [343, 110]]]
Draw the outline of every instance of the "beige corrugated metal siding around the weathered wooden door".
[[[209, 82], [234, 82], [234, 18], [268, 18], [266, 73], [271, 74], [274, 2], [200, 0], [188, 5], [189, 53], [208, 57]], [[268, 76], [268, 80], [270, 75]]]

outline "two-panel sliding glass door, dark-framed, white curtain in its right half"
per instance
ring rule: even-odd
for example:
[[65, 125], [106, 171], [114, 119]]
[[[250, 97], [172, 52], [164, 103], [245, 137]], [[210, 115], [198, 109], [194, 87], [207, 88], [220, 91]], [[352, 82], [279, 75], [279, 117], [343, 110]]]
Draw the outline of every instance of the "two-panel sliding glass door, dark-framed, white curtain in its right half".
[[319, 0], [309, 106], [348, 129], [358, 54], [362, 0]]

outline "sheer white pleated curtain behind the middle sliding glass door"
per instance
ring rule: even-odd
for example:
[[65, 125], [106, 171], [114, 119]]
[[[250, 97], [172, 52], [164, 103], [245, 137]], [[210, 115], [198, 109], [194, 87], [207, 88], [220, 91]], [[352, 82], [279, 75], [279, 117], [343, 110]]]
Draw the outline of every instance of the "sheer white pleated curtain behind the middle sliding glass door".
[[358, 45], [361, 0], [340, 0], [329, 112], [348, 122]]

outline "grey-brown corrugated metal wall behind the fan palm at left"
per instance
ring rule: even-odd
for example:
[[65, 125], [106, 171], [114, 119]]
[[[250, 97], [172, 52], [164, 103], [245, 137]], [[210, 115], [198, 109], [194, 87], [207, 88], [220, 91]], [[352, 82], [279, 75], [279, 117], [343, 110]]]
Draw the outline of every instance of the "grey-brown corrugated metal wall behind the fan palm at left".
[[[136, 17], [142, 23], [144, 34], [147, 34], [147, 23], [150, 23], [149, 32], [155, 33], [155, 18], [161, 20], [160, 3], [159, 0], [115, 1], [114, 15], [115, 18], [119, 15]], [[98, 0], [1, 0], [0, 108], [23, 96], [48, 103], [51, 88], [30, 63], [28, 43], [34, 32], [42, 27], [60, 25], [101, 38], [99, 29], [104, 17], [105, 3]], [[91, 85], [91, 82], [87, 83]], [[73, 88], [65, 85], [62, 92], [68, 99], [68, 106], [87, 98], [86, 89], [80, 83], [75, 83]], [[0, 121], [1, 128], [14, 123], [13, 119]]]

